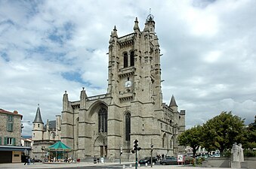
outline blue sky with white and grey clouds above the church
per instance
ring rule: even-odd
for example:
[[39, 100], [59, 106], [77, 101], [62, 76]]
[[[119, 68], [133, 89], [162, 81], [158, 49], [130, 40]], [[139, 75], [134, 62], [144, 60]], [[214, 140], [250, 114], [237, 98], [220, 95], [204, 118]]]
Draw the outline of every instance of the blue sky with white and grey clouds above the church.
[[[154, 16], [163, 100], [174, 95], [186, 128], [222, 111], [254, 121], [254, 0], [0, 0], [0, 108], [23, 115], [23, 135], [62, 111], [64, 91], [78, 101], [106, 93], [109, 35], [143, 30]], [[30, 122], [29, 122], [30, 121]]]

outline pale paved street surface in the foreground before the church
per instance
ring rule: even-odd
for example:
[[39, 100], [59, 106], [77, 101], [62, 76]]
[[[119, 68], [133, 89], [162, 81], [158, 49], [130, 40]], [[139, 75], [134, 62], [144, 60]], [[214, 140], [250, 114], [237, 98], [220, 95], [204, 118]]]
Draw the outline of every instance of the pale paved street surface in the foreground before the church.
[[[108, 163], [100, 163], [100, 164], [93, 164], [92, 162], [79, 162], [79, 163], [64, 163], [64, 164], [44, 164], [42, 162], [36, 162], [35, 164], [30, 165], [24, 165], [24, 163], [5, 163], [0, 164], [0, 168], [8, 169], [8, 168], [15, 168], [15, 169], [28, 169], [28, 168], [60, 168], [60, 167], [85, 167], [85, 166], [109, 166], [109, 165], [116, 165], [119, 164], [117, 162], [108, 162]], [[125, 165], [125, 166], [124, 166]], [[122, 163], [122, 168], [128, 169], [128, 168], [134, 168], [134, 164], [130, 163]], [[151, 166], [145, 166], [141, 165], [140, 167], [137, 167], [138, 169], [150, 169]], [[204, 169], [205, 167], [192, 167], [192, 166], [184, 166], [184, 165], [154, 165], [152, 167], [153, 169], [170, 169], [170, 168], [177, 168], [177, 169]], [[207, 168], [209, 169], [209, 167]], [[211, 167], [211, 169], [227, 169], [227, 167]]]

